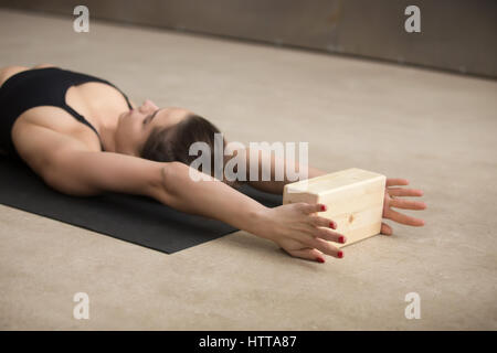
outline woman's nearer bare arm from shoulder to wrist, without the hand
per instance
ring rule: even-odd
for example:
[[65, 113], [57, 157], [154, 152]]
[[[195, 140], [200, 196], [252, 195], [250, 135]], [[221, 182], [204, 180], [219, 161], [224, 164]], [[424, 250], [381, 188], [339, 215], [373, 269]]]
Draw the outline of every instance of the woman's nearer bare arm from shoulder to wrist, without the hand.
[[254, 214], [265, 208], [222, 182], [213, 179], [194, 182], [190, 168], [179, 162], [92, 151], [80, 140], [32, 124], [25, 124], [23, 133], [14, 136], [21, 158], [47, 185], [65, 194], [87, 196], [105, 191], [140, 194], [247, 231], [253, 231]]

